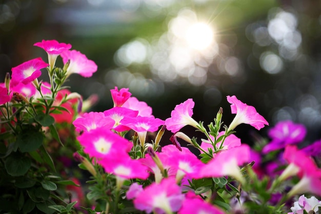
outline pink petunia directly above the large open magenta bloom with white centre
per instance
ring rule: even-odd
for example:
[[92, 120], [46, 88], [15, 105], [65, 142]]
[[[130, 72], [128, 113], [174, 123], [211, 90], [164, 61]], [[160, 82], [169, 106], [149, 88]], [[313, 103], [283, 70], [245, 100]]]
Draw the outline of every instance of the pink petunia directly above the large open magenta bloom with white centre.
[[72, 124], [75, 126], [76, 131], [90, 131], [99, 127], [106, 129], [113, 128], [115, 121], [111, 120], [103, 112], [89, 112], [79, 116]]

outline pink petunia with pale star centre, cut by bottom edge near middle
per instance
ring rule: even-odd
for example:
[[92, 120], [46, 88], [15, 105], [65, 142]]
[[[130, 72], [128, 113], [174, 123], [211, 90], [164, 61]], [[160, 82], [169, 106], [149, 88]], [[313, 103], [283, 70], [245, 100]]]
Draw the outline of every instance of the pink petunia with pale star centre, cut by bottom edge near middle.
[[151, 213], [155, 210], [158, 214], [176, 212], [182, 206], [184, 194], [175, 183], [175, 179], [166, 178], [159, 184], [152, 183], [139, 192], [134, 199], [134, 206], [138, 210]]

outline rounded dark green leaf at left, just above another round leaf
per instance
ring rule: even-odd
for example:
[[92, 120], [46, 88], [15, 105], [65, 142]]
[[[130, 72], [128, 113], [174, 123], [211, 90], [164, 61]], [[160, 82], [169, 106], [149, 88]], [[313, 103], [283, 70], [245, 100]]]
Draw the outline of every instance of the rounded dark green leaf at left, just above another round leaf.
[[17, 143], [22, 152], [30, 152], [38, 149], [44, 140], [44, 134], [39, 131], [24, 130], [18, 135]]

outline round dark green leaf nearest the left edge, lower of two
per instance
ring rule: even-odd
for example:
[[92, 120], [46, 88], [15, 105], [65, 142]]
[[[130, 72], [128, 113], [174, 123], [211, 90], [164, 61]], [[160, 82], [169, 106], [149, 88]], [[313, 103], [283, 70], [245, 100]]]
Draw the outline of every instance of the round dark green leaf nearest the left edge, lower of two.
[[22, 154], [11, 153], [5, 162], [5, 167], [10, 176], [23, 176], [31, 167], [31, 160]]

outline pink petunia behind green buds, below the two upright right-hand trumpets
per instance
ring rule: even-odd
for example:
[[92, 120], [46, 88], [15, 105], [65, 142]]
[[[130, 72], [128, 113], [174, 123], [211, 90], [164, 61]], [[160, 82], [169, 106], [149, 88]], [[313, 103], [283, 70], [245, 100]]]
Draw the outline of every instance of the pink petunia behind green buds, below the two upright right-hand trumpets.
[[[217, 138], [221, 137], [223, 134], [225, 134], [225, 131], [218, 132]], [[214, 142], [214, 137], [210, 136], [210, 138]], [[222, 145], [222, 141], [218, 142], [216, 144], [216, 148], [220, 148], [221, 145]], [[230, 135], [228, 135], [228, 137], [226, 137], [225, 141], [223, 142], [222, 149], [227, 150], [227, 149], [230, 149], [230, 148], [233, 148], [236, 146], [240, 146], [240, 145], [241, 145], [240, 139], [237, 138], [235, 136], [235, 134], [230, 134]], [[214, 151], [213, 146], [209, 140], [202, 139], [202, 143], [200, 144], [200, 148], [204, 149], [205, 151], [207, 151], [208, 148], [212, 148], [212, 150]], [[200, 151], [200, 152], [203, 153], [202, 151]]]

